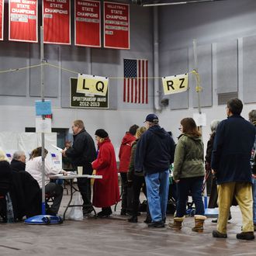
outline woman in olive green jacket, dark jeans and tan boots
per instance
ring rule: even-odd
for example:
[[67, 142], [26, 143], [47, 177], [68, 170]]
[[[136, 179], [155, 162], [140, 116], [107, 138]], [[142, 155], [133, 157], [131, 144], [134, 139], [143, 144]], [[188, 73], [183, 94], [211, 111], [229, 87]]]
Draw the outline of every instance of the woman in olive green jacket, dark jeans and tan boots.
[[202, 202], [202, 182], [205, 175], [202, 136], [195, 120], [187, 117], [182, 119], [175, 148], [175, 162], [173, 178], [177, 183], [178, 202], [174, 223], [169, 226], [173, 230], [181, 230], [185, 219], [187, 198], [189, 191], [195, 202], [195, 227], [192, 231], [202, 232], [206, 220], [205, 209]]

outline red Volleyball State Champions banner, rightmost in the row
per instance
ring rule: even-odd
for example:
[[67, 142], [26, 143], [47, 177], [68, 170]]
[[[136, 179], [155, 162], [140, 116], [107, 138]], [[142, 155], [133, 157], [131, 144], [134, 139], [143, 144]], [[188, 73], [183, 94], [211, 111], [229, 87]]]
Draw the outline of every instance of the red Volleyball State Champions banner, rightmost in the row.
[[104, 47], [130, 49], [129, 5], [104, 2]]

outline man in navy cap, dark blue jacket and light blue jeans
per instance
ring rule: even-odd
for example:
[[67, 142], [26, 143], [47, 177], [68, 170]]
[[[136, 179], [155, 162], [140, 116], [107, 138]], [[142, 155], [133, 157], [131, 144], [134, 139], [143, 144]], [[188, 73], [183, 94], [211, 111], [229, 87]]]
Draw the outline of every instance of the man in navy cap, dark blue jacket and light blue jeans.
[[135, 171], [144, 171], [147, 201], [152, 223], [148, 227], [164, 227], [169, 189], [169, 168], [174, 161], [175, 142], [158, 124], [158, 117], [146, 117], [147, 131], [137, 142]]

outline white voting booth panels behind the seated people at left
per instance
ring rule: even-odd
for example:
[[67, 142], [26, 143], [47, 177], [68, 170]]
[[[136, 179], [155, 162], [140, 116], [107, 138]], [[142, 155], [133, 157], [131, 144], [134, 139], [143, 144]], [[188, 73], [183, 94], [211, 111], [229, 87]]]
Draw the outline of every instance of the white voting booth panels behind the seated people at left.
[[[61, 152], [55, 149], [57, 146], [57, 133], [45, 133], [45, 148], [48, 150], [47, 158], [52, 161], [56, 168], [62, 168]], [[42, 146], [41, 133], [12, 133], [0, 132], [0, 148], [5, 151], [9, 161], [17, 150], [22, 150], [26, 154], [26, 160], [29, 154], [36, 147]]]

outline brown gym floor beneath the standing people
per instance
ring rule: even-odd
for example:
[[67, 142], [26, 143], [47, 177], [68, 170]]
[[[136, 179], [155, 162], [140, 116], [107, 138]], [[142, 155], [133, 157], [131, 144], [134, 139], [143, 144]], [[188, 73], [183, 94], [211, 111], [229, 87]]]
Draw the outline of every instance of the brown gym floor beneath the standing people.
[[[60, 214], [64, 212], [69, 195], [64, 195]], [[65, 220], [57, 225], [0, 224], [0, 255], [256, 255], [256, 241], [237, 240], [241, 220], [238, 206], [231, 209], [228, 238], [212, 237], [216, 228], [212, 219], [206, 220], [202, 234], [192, 232], [194, 220], [185, 219], [181, 231], [168, 228], [148, 228], [145, 213], [138, 223], [128, 223], [129, 216], [120, 216], [120, 203], [112, 217], [82, 221]], [[112, 207], [113, 209], [113, 207]], [[96, 209], [99, 211], [100, 209]], [[168, 216], [167, 223], [172, 220]]]

